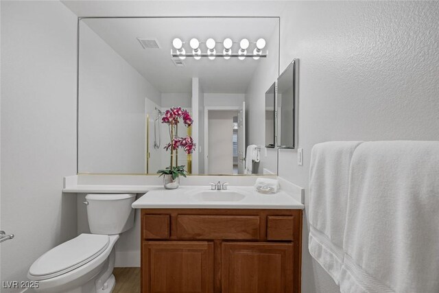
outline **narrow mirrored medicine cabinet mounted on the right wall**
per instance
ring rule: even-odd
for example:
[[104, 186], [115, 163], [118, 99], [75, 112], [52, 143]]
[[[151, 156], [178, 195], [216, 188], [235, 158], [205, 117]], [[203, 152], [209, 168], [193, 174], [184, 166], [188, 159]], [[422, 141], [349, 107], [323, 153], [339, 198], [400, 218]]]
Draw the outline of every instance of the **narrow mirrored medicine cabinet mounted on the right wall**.
[[293, 60], [277, 80], [276, 141], [278, 148], [295, 148], [298, 140], [297, 61]]

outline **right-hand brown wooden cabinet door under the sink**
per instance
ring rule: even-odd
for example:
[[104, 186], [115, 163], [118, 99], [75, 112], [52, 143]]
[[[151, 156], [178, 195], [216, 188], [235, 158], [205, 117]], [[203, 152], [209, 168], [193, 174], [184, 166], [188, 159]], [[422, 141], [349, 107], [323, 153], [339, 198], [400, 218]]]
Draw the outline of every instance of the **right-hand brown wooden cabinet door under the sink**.
[[293, 244], [224, 242], [223, 293], [292, 293]]

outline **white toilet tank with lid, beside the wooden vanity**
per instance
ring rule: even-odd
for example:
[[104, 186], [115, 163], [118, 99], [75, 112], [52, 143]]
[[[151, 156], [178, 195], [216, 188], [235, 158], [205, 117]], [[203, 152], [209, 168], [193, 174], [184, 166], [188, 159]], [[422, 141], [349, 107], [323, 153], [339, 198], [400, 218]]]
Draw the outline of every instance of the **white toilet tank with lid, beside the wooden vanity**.
[[120, 234], [134, 225], [136, 194], [87, 194], [88, 226], [93, 234]]

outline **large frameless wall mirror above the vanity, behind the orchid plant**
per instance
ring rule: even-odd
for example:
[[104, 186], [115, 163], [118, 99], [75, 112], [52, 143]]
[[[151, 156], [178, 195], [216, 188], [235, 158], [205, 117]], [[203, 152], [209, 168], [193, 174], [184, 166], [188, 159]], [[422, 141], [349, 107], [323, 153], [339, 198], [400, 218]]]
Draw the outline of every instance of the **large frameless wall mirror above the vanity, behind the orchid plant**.
[[[278, 23], [277, 17], [81, 18], [78, 173], [156, 174], [169, 165], [163, 113], [182, 107], [194, 122], [179, 127], [178, 136], [191, 135], [196, 148], [189, 156], [179, 152], [178, 165], [191, 174], [244, 174], [246, 132], [260, 131], [246, 124], [245, 102], [261, 112], [264, 105], [264, 93], [253, 102], [246, 91], [261, 62], [278, 70]], [[202, 56], [191, 48], [192, 38]], [[203, 56], [209, 38], [214, 56]], [[226, 38], [232, 42], [223, 43]]]

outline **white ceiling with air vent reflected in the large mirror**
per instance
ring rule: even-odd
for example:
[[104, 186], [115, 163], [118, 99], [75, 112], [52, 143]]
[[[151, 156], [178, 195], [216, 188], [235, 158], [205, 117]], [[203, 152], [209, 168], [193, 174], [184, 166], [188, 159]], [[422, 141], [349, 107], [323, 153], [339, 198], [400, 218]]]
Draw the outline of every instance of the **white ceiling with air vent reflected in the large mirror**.
[[[161, 93], [191, 93], [193, 77], [200, 78], [205, 93], [245, 93], [260, 62], [278, 62], [277, 54], [270, 54], [270, 51], [267, 61], [262, 58], [186, 58], [185, 67], [176, 67], [171, 61], [171, 41], [176, 37], [188, 42], [185, 45], [187, 51], [191, 38], [202, 42], [214, 38], [219, 42], [217, 52], [220, 53], [222, 40], [227, 37], [236, 42], [244, 37], [250, 41], [265, 38], [269, 43], [277, 28], [277, 18], [124, 18], [83, 19], [82, 22]], [[274, 36], [277, 36], [277, 30]], [[137, 37], [156, 39], [161, 49], [143, 49]], [[274, 50], [277, 50], [277, 38], [274, 39]], [[251, 49], [253, 47], [250, 45]], [[205, 45], [200, 45], [200, 49], [204, 52]], [[237, 52], [239, 44], [234, 43], [232, 49]]]

